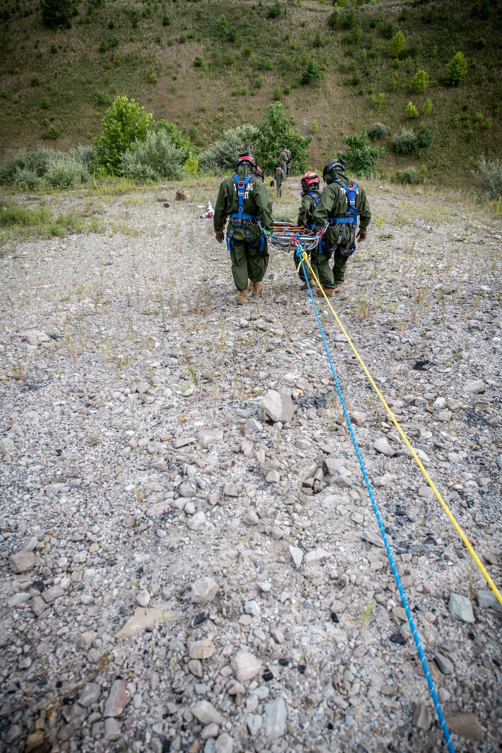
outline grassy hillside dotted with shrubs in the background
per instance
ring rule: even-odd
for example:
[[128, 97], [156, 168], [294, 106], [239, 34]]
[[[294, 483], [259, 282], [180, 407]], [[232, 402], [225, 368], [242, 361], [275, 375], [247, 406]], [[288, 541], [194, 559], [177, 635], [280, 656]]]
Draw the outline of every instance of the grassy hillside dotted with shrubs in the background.
[[[125, 93], [157, 119], [179, 123], [198, 146], [242, 121], [260, 122], [266, 105], [281, 99], [302, 133], [312, 133], [317, 168], [343, 148], [342, 136], [375, 121], [391, 133], [426, 124], [434, 135], [431, 148], [406, 157], [383, 139], [379, 165], [387, 175], [414, 165], [434, 181], [461, 184], [471, 181], [479, 154], [500, 155], [497, 2], [333, 9], [317, 0], [93, 0], [78, 5], [71, 28], [50, 30], [36, 0], [0, 0], [0, 18], [2, 151], [41, 138], [57, 148], [93, 139], [108, 103]], [[388, 46], [398, 31], [406, 47], [392, 59]], [[467, 76], [446, 87], [457, 50], [468, 59]], [[323, 78], [302, 86], [309, 59], [322, 66]], [[410, 93], [421, 69], [430, 84]], [[432, 111], [423, 115], [427, 98]], [[417, 119], [406, 117], [409, 100]]]

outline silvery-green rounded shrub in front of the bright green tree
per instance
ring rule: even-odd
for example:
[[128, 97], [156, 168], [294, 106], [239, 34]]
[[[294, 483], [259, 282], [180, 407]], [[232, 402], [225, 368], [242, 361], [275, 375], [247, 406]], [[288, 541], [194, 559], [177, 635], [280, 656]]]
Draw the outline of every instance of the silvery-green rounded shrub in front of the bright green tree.
[[181, 178], [184, 159], [165, 130], [148, 131], [144, 141], [136, 139], [124, 151], [120, 172], [135, 181]]

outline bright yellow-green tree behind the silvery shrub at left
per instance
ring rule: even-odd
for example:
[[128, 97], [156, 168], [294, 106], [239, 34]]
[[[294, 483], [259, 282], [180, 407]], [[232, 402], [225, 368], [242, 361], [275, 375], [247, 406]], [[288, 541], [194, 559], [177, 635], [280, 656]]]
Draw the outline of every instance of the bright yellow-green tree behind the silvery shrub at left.
[[96, 139], [96, 162], [111, 175], [120, 172], [126, 149], [137, 140], [144, 142], [154, 124], [154, 116], [135, 99], [117, 96], [102, 118], [101, 136]]

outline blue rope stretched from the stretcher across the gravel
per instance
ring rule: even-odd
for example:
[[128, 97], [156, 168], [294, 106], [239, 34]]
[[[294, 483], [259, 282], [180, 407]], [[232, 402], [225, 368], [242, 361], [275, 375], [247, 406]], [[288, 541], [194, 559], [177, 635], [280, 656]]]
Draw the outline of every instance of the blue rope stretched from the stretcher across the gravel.
[[429, 692], [431, 693], [431, 697], [434, 703], [434, 708], [436, 709], [437, 718], [440, 720], [441, 729], [443, 730], [443, 736], [445, 738], [446, 745], [448, 746], [449, 753], [455, 753], [455, 748], [453, 747], [452, 739], [450, 738], [449, 729], [446, 725], [446, 719], [443, 715], [443, 709], [441, 709], [440, 700], [437, 697], [436, 688], [434, 687], [434, 682], [432, 681], [432, 678], [431, 678], [431, 672], [429, 672], [427, 659], [425, 658], [423, 648], [421, 648], [421, 642], [420, 642], [420, 639], [418, 638], [418, 633], [415, 628], [415, 623], [413, 622], [413, 617], [409, 609], [408, 601], [406, 599], [406, 594], [404, 593], [403, 585], [401, 584], [401, 579], [396, 569], [394, 557], [392, 556], [392, 552], [391, 552], [391, 547], [389, 546], [388, 538], [385, 533], [384, 525], [382, 523], [382, 518], [380, 517], [379, 508], [376, 505], [376, 499], [373, 495], [373, 489], [371, 488], [370, 479], [368, 478], [366, 468], [364, 467], [363, 459], [361, 458], [361, 453], [357, 445], [357, 440], [355, 438], [354, 429], [352, 428], [351, 419], [349, 419], [348, 417], [347, 407], [345, 406], [345, 400], [343, 399], [343, 395], [342, 395], [342, 389], [340, 389], [339, 381], [336, 377], [335, 367], [333, 366], [333, 361], [331, 360], [330, 349], [327, 346], [326, 337], [324, 336], [324, 330], [321, 325], [321, 319], [319, 319], [318, 309], [317, 309], [317, 306], [315, 306], [315, 300], [314, 300], [314, 296], [312, 295], [312, 290], [310, 288], [309, 277], [307, 276], [305, 265], [303, 264], [303, 258], [301, 259], [301, 263], [302, 263], [303, 274], [305, 276], [306, 283], [309, 288], [310, 297], [312, 299], [312, 306], [314, 306], [315, 317], [318, 320], [319, 330], [321, 331], [321, 337], [324, 343], [324, 349], [326, 350], [327, 360], [330, 362], [331, 373], [333, 373], [333, 379], [335, 380], [336, 392], [338, 392], [338, 397], [340, 399], [340, 403], [342, 404], [343, 414], [345, 416], [345, 421], [347, 422], [348, 431], [350, 431], [352, 444], [354, 444], [354, 450], [357, 455], [357, 460], [359, 461], [359, 465], [361, 465], [361, 471], [363, 472], [364, 483], [366, 484], [368, 494], [370, 495], [371, 504], [373, 505], [373, 512], [375, 513], [376, 521], [379, 524], [380, 533], [382, 534], [382, 539], [385, 544], [385, 550], [387, 551], [387, 556], [388, 556], [389, 562], [391, 563], [391, 569], [394, 575], [394, 580], [396, 581], [397, 590], [399, 590], [399, 595], [401, 597], [401, 601], [403, 602], [404, 611], [406, 612], [406, 618], [408, 620], [409, 627], [412, 631], [413, 639], [415, 640], [415, 645], [417, 647], [418, 656], [420, 657], [421, 666], [424, 669], [425, 679], [427, 680], [427, 685], [429, 686]]

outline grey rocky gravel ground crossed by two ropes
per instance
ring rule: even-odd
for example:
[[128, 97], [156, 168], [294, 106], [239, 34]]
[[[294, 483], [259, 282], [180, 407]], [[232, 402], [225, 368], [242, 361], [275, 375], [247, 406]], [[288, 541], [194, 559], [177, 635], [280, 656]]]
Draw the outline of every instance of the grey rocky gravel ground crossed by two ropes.
[[[291, 255], [236, 306], [175, 188], [0, 260], [2, 749], [441, 750]], [[500, 586], [500, 221], [368, 192], [333, 305]], [[500, 606], [319, 305], [455, 748], [500, 749]]]

